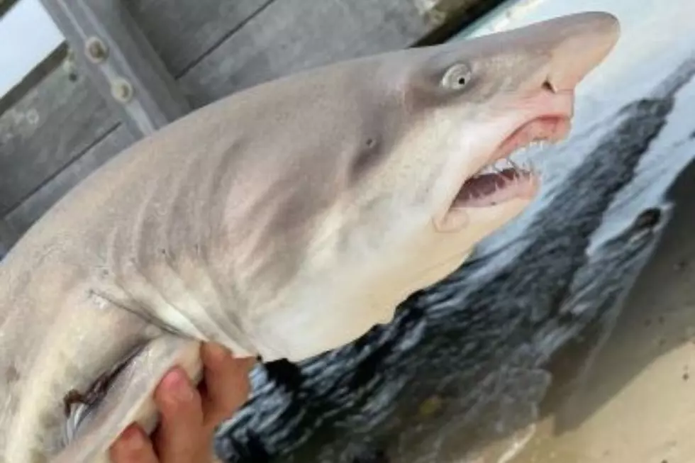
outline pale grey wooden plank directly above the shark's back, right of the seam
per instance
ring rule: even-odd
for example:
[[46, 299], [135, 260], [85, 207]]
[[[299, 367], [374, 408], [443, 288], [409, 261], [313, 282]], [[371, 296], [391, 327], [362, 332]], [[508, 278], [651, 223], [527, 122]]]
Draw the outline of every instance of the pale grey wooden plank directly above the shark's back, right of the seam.
[[276, 0], [181, 79], [193, 106], [308, 67], [406, 48], [430, 28], [412, 1]]

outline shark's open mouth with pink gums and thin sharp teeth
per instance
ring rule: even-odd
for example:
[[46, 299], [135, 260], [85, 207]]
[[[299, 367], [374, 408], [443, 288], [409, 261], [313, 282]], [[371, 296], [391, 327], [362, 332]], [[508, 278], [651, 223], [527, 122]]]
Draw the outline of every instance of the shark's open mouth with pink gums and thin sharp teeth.
[[496, 206], [533, 196], [538, 183], [533, 166], [518, 166], [508, 157], [533, 145], [556, 143], [568, 132], [567, 116], [542, 116], [522, 125], [497, 147], [482, 169], [466, 180], [452, 208]]

